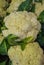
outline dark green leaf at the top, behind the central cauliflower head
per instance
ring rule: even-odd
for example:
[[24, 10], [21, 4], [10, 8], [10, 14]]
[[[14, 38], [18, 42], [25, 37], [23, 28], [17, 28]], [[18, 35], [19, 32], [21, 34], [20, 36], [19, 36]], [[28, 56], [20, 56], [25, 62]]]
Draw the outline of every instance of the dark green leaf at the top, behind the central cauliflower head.
[[42, 3], [42, 0], [26, 0], [20, 4], [18, 11], [35, 12], [35, 2]]

